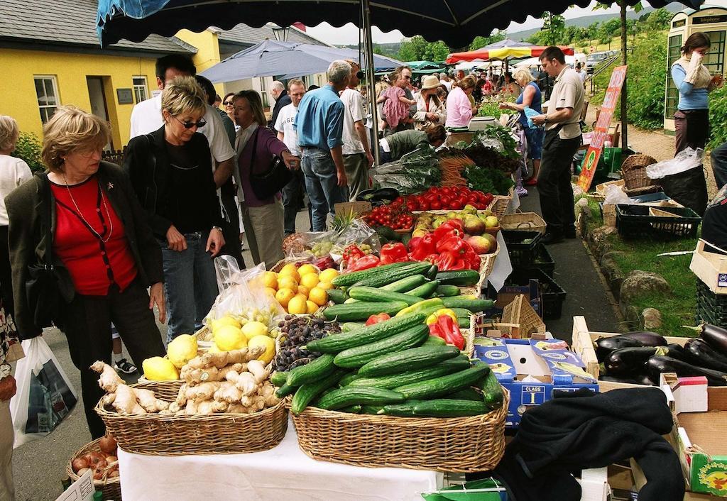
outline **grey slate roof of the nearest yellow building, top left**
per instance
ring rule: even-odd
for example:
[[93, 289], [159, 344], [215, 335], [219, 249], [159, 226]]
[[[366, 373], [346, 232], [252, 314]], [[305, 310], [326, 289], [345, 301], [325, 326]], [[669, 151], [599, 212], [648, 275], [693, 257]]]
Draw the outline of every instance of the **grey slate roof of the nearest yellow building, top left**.
[[[0, 40], [100, 49], [96, 9], [95, 0], [0, 0]], [[139, 44], [122, 40], [108, 48], [109, 52], [114, 49], [167, 54], [197, 52], [176, 37], [158, 35], [150, 35]]]

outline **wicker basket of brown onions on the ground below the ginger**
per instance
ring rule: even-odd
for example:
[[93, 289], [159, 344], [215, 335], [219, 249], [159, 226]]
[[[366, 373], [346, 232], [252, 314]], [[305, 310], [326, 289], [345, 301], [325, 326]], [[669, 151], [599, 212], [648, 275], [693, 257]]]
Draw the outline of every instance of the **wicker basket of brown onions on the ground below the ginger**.
[[116, 454], [116, 439], [113, 436], [97, 438], [73, 454], [65, 472], [75, 482], [87, 470], [91, 470], [96, 490], [102, 491], [105, 499], [121, 500], [119, 460]]

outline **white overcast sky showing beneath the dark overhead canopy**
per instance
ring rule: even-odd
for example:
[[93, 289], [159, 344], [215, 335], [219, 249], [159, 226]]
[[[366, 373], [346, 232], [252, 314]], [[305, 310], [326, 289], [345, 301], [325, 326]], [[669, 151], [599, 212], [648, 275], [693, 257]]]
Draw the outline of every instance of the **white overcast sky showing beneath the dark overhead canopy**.
[[[705, 4], [715, 5], [719, 7], [727, 7], [727, 0], [707, 0]], [[574, 17], [583, 17], [598, 14], [607, 14], [619, 12], [619, 7], [610, 7], [606, 10], [593, 11], [593, 6], [596, 4], [595, 1], [591, 3], [589, 7], [571, 7], [566, 10], [563, 15], [566, 20], [573, 19]], [[566, 21], [567, 23], [567, 21]], [[515, 33], [516, 31], [529, 30], [530, 28], [539, 28], [542, 26], [542, 20], [534, 19], [529, 16], [525, 23], [510, 23], [507, 28], [508, 33]], [[358, 44], [358, 28], [351, 23], [342, 26], [341, 28], [334, 28], [328, 23], [321, 23], [315, 27], [308, 27], [308, 33], [315, 36], [317, 39], [325, 41], [328, 44], [333, 45], [348, 45]], [[375, 26], [371, 28], [371, 36], [374, 37], [374, 44], [388, 44], [392, 42], [401, 41], [403, 35], [401, 31], [394, 30], [384, 33]]]

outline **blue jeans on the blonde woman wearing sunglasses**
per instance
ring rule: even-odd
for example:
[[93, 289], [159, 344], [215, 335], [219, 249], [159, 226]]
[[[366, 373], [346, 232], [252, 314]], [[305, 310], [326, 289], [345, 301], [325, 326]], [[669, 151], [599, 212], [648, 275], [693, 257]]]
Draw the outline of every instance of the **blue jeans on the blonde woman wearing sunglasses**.
[[159, 241], [164, 258], [166, 342], [180, 334], [194, 334], [217, 298], [214, 261], [204, 251], [209, 233], [185, 233], [187, 249], [169, 249]]

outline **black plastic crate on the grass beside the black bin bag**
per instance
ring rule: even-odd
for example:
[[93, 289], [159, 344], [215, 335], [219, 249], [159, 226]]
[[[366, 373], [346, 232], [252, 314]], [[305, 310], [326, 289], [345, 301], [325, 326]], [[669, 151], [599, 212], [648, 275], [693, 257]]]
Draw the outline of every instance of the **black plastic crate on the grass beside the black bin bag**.
[[[650, 209], [673, 216], [649, 215]], [[624, 239], [693, 239], [702, 217], [688, 207], [616, 205], [616, 229]]]

